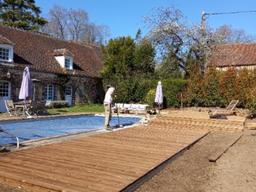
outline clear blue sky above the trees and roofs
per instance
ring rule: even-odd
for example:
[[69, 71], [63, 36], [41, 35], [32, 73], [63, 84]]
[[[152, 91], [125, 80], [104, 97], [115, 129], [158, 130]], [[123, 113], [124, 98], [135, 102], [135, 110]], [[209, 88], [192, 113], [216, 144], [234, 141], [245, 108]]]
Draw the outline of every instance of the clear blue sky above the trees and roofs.
[[[152, 8], [169, 6], [171, 2], [179, 5], [190, 22], [200, 22], [202, 10], [206, 13], [256, 10], [255, 0], [36, 0], [36, 5], [42, 8], [43, 16], [48, 14], [53, 4], [82, 8], [88, 12], [91, 22], [108, 25], [111, 37], [134, 37], [138, 28], [146, 33], [141, 24], [143, 16], [150, 15]], [[256, 35], [255, 18], [256, 12], [214, 15], [207, 22], [215, 28], [232, 24], [234, 28]]]

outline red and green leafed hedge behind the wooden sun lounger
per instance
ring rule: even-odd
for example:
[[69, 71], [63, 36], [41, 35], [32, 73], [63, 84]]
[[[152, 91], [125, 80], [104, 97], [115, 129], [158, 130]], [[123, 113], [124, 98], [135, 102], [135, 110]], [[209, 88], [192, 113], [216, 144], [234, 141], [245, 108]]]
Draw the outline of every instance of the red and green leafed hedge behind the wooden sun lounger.
[[208, 68], [204, 76], [196, 69], [191, 73], [186, 88], [188, 106], [225, 107], [234, 99], [239, 100], [239, 107], [256, 111], [256, 69]]

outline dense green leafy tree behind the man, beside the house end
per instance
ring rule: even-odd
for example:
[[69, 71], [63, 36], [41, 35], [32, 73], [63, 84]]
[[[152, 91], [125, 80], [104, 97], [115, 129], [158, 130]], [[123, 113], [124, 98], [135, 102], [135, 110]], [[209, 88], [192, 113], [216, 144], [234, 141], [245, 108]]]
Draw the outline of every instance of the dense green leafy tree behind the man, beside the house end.
[[[139, 44], [130, 36], [110, 39], [102, 46], [104, 84], [117, 86], [118, 102], [138, 102], [142, 78], [154, 71], [154, 47], [147, 39]], [[150, 74], [151, 73], [151, 74]], [[148, 76], [146, 76], [148, 77]]]

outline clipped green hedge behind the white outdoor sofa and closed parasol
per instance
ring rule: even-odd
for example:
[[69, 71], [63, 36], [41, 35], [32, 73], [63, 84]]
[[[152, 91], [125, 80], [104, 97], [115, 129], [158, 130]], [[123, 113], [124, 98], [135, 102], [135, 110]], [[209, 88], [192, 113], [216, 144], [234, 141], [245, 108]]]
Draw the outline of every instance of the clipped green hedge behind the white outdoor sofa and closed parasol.
[[[113, 78], [104, 84], [117, 86], [117, 102], [120, 103], [146, 103], [154, 106], [154, 98], [158, 79], [139, 78]], [[164, 95], [164, 107], [179, 107], [180, 93], [184, 90], [187, 80], [182, 79], [161, 79]]]

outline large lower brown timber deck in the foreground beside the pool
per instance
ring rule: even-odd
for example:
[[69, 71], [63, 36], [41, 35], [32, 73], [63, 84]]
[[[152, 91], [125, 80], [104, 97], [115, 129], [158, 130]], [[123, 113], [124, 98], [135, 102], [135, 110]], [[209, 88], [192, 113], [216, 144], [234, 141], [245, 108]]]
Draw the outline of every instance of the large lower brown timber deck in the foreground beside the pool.
[[208, 133], [138, 126], [0, 156], [0, 182], [35, 192], [132, 191]]

